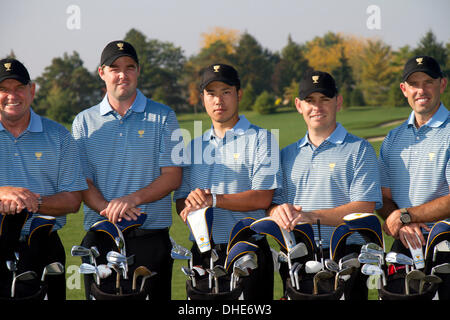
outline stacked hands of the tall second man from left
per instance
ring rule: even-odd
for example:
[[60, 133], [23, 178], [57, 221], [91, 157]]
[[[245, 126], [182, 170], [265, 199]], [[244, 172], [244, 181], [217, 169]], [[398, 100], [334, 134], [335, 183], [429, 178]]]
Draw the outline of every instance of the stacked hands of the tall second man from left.
[[108, 206], [100, 211], [100, 214], [112, 223], [122, 221], [122, 218], [131, 221], [136, 220], [141, 214], [141, 209], [136, 208], [137, 202], [132, 195], [113, 199]]

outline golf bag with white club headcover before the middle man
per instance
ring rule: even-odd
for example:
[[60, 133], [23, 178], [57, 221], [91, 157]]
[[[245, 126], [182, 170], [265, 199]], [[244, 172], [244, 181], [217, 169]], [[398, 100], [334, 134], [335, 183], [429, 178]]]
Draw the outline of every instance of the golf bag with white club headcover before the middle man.
[[[273, 275], [270, 247], [264, 236], [251, 230], [250, 225], [255, 219], [249, 217], [238, 221], [225, 248], [224, 245], [216, 246], [212, 240], [213, 209], [201, 209], [198, 214], [203, 216], [196, 224], [188, 216], [189, 228], [196, 239], [192, 253], [194, 258], [198, 257], [194, 260], [200, 264], [200, 270], [207, 273], [200, 275], [191, 265], [192, 276], [186, 281], [188, 299], [256, 300], [267, 296], [269, 289], [272, 295], [273, 278], [272, 282], [264, 278], [266, 272]], [[259, 267], [260, 263], [262, 267]], [[261, 283], [263, 278], [265, 282]]]

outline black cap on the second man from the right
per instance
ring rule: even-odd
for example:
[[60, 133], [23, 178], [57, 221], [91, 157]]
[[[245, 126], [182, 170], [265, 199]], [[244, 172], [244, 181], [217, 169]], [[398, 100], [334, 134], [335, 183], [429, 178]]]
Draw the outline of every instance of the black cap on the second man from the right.
[[305, 100], [313, 92], [320, 92], [328, 98], [333, 98], [338, 90], [333, 77], [323, 71], [310, 71], [305, 73], [299, 84], [299, 98]]

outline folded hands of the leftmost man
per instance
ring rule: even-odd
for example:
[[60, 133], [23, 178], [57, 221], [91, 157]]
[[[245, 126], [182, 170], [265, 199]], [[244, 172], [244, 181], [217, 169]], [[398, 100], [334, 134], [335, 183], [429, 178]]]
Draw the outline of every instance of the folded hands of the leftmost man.
[[0, 213], [16, 214], [23, 209], [37, 212], [39, 194], [21, 187], [0, 187]]

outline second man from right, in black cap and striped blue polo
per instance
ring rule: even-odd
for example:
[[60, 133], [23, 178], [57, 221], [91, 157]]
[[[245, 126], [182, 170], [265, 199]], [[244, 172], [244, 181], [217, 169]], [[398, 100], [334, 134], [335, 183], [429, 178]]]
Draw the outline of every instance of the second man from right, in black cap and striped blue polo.
[[[336, 122], [342, 96], [330, 74], [306, 73], [295, 105], [308, 131], [281, 151], [283, 186], [275, 191], [276, 205], [268, 213], [287, 230], [298, 222], [311, 223], [316, 236], [320, 220], [322, 242], [328, 247], [335, 226], [345, 215], [372, 213], [381, 207], [377, 158], [366, 140]], [[359, 234], [351, 235], [347, 253], [359, 251], [363, 243]], [[365, 278], [357, 284], [351, 292], [346, 290], [346, 299], [367, 299]]]

